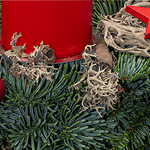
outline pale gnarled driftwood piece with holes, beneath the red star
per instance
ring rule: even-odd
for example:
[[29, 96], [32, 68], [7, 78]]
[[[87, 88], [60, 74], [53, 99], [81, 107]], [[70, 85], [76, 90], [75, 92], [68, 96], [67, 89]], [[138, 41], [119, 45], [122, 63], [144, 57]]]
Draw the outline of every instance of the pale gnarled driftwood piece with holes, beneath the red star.
[[[137, 56], [150, 57], [150, 42], [144, 39], [145, 26], [140, 20], [125, 12], [126, 6], [131, 5], [132, 2], [128, 0], [114, 15], [102, 16], [104, 20], [99, 22], [97, 29], [104, 34], [107, 46]], [[132, 5], [150, 6], [150, 2], [139, 1]]]

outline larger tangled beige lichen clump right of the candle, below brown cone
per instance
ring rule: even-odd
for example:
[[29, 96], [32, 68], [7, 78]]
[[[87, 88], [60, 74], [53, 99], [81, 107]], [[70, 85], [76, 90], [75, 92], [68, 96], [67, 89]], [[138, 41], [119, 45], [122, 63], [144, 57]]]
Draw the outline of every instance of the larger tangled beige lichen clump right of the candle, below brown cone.
[[[85, 71], [79, 82], [69, 87], [74, 87], [76, 90], [79, 88], [80, 83], [86, 83], [87, 86], [82, 89], [86, 92], [82, 100], [82, 111], [89, 108], [95, 109], [100, 117], [102, 109], [115, 109], [114, 104], [119, 102], [119, 95], [121, 93], [121, 85], [119, 82], [118, 74], [112, 72], [112, 67], [108, 62], [102, 62], [93, 51], [92, 47], [95, 45], [87, 45], [82, 54], [85, 63]], [[106, 51], [106, 53], [109, 53]], [[95, 58], [95, 59], [93, 59]]]

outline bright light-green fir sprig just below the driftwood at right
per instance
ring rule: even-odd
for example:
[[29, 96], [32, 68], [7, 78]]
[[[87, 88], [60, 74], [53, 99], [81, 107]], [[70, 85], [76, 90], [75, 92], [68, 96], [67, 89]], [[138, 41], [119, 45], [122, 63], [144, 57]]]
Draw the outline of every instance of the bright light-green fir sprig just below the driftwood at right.
[[149, 63], [150, 59], [137, 58], [133, 54], [119, 52], [118, 62], [117, 65], [113, 63], [113, 70], [115, 73], [119, 73], [122, 82], [131, 83], [143, 79], [149, 74]]

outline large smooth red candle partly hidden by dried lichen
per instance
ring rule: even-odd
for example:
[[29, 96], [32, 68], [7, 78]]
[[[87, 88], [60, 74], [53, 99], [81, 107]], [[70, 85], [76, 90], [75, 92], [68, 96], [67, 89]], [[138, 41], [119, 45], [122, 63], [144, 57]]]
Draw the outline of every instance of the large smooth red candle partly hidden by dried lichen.
[[92, 39], [92, 0], [6, 1], [2, 0], [1, 43], [11, 49], [13, 33], [23, 35], [17, 45], [50, 45], [56, 59], [80, 54]]

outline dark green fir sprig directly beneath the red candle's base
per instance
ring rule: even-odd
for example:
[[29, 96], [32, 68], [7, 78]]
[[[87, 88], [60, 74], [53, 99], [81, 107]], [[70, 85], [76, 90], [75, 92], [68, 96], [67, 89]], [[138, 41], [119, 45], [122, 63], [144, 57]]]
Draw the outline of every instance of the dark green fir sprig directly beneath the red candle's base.
[[[62, 105], [63, 100], [72, 94], [68, 92], [68, 86], [80, 79], [80, 72], [83, 69], [79, 67], [80, 63], [55, 64], [58, 71], [53, 76], [52, 83], [43, 77], [34, 84], [34, 81], [27, 80], [23, 75], [15, 79], [10, 72], [6, 72], [5, 61], [3, 61], [0, 64], [0, 77], [6, 85], [4, 102], [6, 105], [16, 107], [24, 104], [45, 105], [46, 107], [53, 106], [54, 103]], [[78, 74], [77, 71], [79, 71]]]

